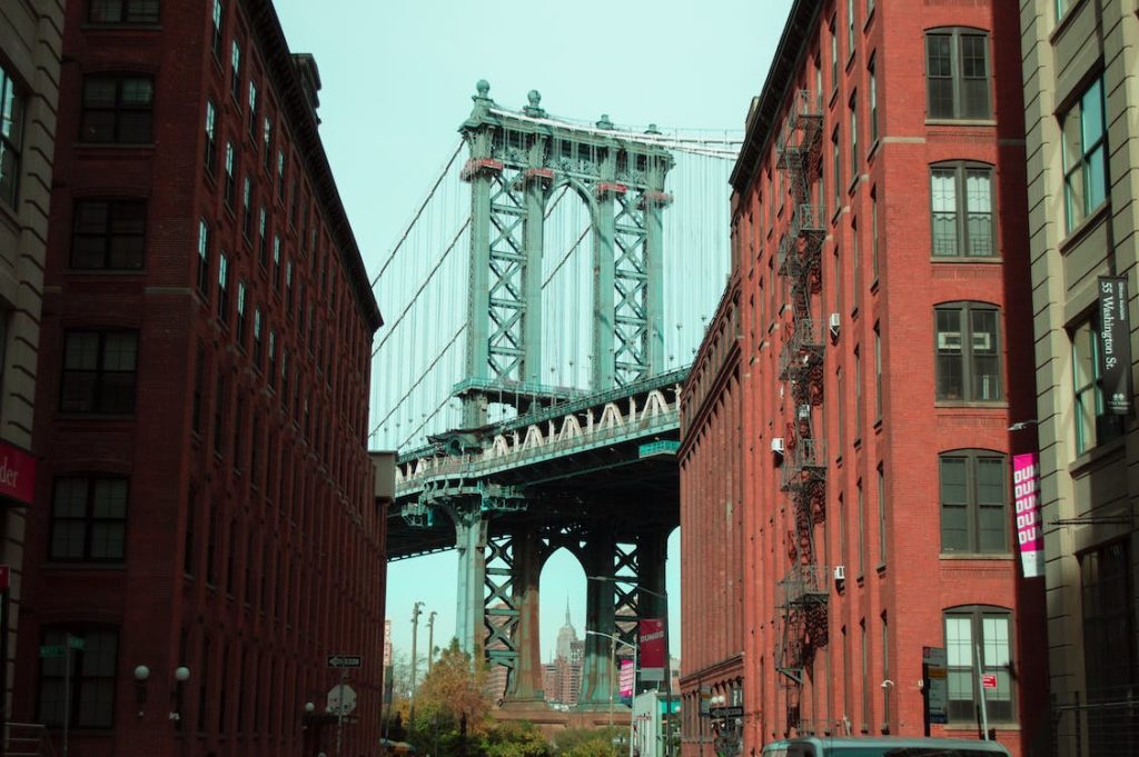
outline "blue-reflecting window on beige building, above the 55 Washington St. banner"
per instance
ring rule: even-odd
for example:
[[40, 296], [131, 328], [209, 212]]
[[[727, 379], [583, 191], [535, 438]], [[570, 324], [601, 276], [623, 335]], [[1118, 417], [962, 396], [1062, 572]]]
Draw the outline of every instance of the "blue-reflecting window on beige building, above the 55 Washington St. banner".
[[1093, 81], [1064, 114], [1064, 207], [1072, 231], [1107, 199], [1107, 120], [1104, 80]]

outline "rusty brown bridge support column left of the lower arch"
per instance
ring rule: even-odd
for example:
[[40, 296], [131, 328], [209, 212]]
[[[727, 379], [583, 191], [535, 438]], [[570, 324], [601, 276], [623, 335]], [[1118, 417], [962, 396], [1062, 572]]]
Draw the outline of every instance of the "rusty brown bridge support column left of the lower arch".
[[538, 529], [530, 526], [514, 536], [514, 596], [518, 608], [515, 649], [518, 663], [507, 699], [515, 702], [541, 702], [542, 648], [539, 625], [539, 583], [541, 579], [541, 544]]

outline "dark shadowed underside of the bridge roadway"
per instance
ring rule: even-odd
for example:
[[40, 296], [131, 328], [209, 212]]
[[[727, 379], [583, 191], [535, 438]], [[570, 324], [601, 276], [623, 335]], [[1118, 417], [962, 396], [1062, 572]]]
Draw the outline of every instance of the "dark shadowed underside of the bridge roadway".
[[[675, 439], [677, 431], [662, 434]], [[646, 529], [671, 532], [680, 525], [680, 472], [672, 452], [640, 456], [644, 439], [633, 439], [568, 456], [543, 460], [491, 476], [493, 484], [525, 493], [525, 509], [494, 513], [487, 536], [541, 525], [551, 534], [605, 525], [616, 541]], [[387, 554], [400, 560], [456, 546], [454, 523], [436, 511], [427, 527], [409, 526], [399, 502], [391, 508]]]

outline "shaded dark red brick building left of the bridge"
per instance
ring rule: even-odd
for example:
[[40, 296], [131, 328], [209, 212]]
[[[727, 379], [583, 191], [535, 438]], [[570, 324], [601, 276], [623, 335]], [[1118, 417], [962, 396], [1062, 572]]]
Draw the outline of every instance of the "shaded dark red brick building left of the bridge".
[[380, 316], [319, 87], [269, 0], [67, 6], [14, 697], [57, 751], [330, 754], [346, 652], [372, 752]]

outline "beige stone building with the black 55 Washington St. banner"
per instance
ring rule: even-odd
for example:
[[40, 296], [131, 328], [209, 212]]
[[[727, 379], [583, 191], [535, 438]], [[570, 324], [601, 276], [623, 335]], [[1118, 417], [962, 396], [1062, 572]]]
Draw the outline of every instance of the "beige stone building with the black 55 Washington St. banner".
[[1134, 755], [1139, 0], [1021, 13], [1036, 410], [1013, 434], [1040, 450], [1055, 754]]

